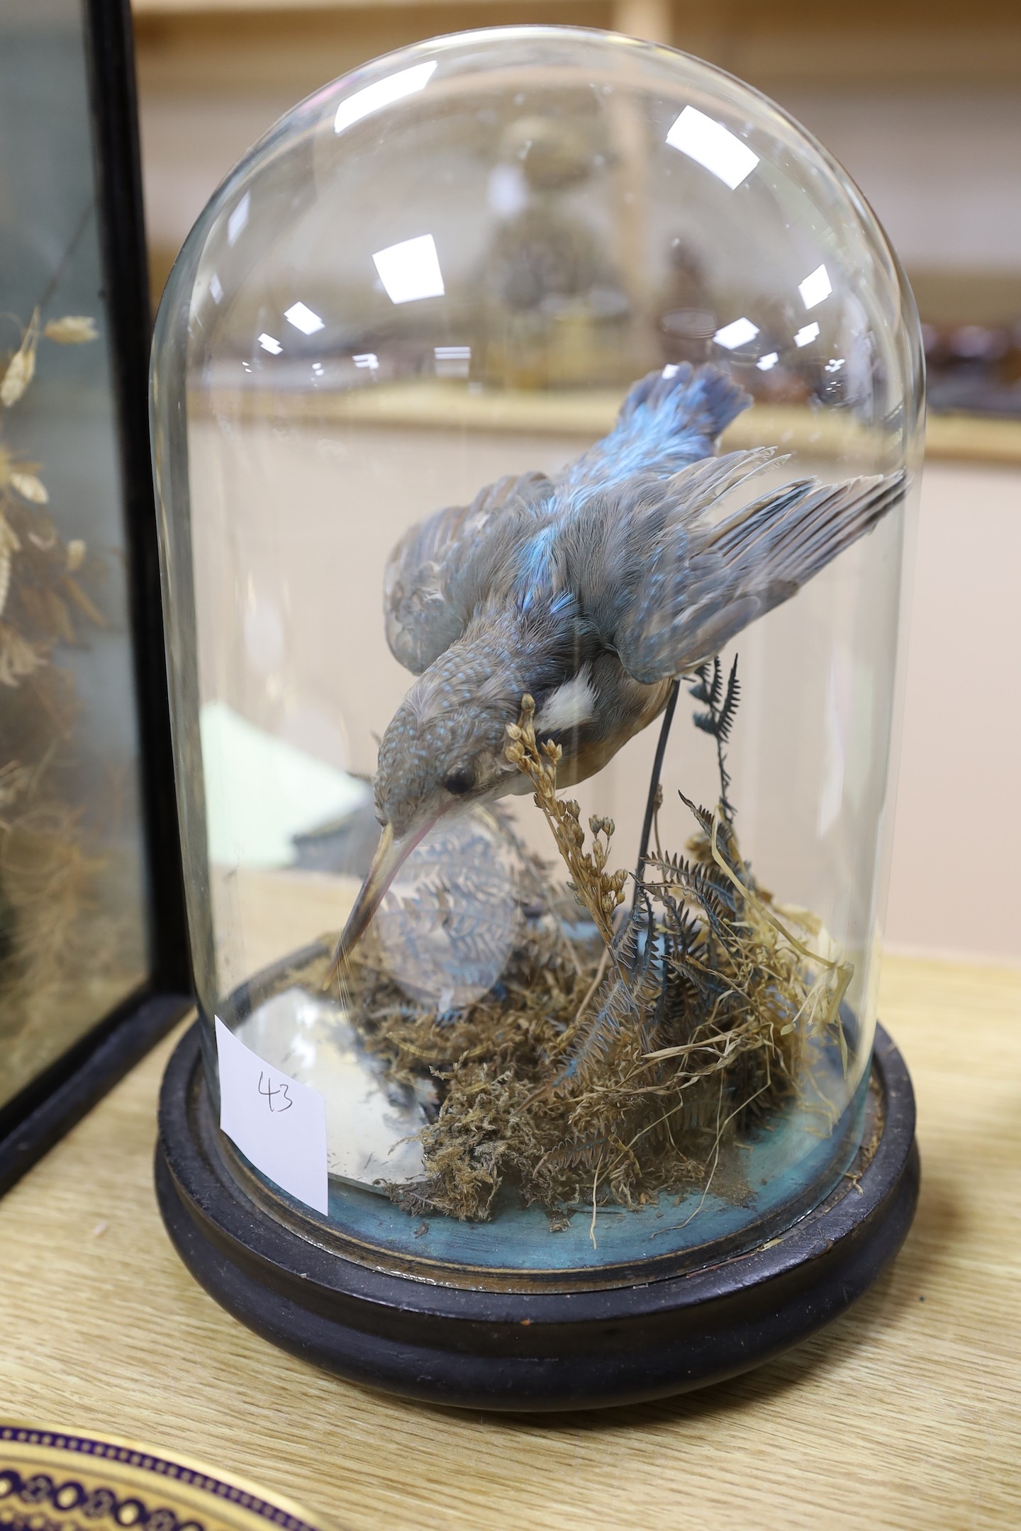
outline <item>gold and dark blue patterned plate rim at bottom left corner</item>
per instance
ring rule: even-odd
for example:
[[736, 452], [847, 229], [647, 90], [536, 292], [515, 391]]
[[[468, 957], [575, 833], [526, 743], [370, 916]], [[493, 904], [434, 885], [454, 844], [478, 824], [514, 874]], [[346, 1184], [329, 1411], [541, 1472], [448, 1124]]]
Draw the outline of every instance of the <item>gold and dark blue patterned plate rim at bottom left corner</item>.
[[0, 1424], [0, 1531], [326, 1531], [288, 1499], [187, 1458]]

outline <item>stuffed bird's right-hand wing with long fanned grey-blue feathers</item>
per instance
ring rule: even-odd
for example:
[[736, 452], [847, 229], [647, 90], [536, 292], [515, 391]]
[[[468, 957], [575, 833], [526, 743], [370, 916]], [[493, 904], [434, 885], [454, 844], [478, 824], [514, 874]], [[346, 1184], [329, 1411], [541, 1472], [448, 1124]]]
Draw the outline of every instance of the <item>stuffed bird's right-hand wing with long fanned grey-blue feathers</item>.
[[623, 582], [626, 599], [600, 600], [599, 591], [586, 597], [589, 609], [612, 620], [603, 640], [634, 680], [652, 684], [718, 654], [903, 498], [903, 473], [843, 484], [805, 478], [713, 521], [721, 495], [770, 461], [761, 450], [700, 462], [669, 481], [658, 499], [648, 484], [643, 499], [637, 485], [629, 522], [615, 537], [614, 585]]

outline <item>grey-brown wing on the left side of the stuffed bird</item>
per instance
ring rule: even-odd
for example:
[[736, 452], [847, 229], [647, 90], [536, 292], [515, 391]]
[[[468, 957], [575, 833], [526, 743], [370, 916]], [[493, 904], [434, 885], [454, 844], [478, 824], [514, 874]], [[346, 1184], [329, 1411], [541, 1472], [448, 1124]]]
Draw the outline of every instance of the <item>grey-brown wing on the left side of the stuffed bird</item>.
[[513, 528], [531, 519], [551, 498], [545, 473], [497, 479], [470, 505], [450, 505], [410, 527], [386, 563], [383, 614], [393, 657], [421, 675], [461, 637], [485, 596], [494, 542], [513, 540]]

